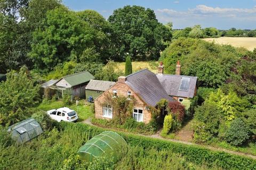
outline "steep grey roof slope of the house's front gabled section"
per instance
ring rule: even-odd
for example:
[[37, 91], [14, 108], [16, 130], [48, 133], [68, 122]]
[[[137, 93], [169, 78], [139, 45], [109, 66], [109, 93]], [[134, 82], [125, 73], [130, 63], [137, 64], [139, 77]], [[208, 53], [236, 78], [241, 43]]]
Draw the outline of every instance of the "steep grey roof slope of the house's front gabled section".
[[156, 74], [147, 69], [128, 75], [125, 83], [139, 94], [148, 105], [156, 106], [158, 101], [163, 98], [174, 101], [172, 97], [167, 95]]

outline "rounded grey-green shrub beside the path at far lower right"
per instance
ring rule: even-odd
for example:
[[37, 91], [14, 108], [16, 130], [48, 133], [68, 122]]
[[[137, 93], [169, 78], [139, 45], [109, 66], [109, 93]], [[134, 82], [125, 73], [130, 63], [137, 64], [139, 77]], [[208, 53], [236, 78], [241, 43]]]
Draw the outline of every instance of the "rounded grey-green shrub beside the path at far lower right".
[[249, 139], [249, 129], [241, 118], [236, 118], [231, 122], [225, 138], [231, 145], [242, 145]]

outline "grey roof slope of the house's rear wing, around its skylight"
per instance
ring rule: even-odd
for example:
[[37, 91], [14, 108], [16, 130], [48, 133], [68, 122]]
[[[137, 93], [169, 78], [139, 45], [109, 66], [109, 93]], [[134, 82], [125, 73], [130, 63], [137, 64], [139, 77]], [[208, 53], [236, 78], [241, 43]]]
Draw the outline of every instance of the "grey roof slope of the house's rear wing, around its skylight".
[[[197, 77], [170, 74], [156, 74], [156, 76], [168, 95], [188, 98], [194, 97]], [[180, 90], [182, 78], [190, 79], [188, 90]]]

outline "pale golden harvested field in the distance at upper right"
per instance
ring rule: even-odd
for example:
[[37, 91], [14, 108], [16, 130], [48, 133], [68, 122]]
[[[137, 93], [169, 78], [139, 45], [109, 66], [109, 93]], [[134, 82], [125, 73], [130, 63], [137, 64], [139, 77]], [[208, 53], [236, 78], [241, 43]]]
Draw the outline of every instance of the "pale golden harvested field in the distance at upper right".
[[256, 48], [256, 37], [220, 37], [220, 38], [204, 38], [205, 41], [218, 44], [229, 44], [234, 47], [244, 47], [248, 50]]

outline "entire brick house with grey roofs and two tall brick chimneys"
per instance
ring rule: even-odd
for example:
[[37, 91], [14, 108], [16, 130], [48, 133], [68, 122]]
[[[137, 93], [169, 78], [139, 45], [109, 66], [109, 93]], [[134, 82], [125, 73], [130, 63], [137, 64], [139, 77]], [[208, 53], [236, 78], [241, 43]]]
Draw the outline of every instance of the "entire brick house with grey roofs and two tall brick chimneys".
[[133, 96], [136, 100], [133, 108], [133, 118], [138, 122], [149, 123], [151, 113], [149, 106], [156, 107], [158, 101], [182, 101], [193, 98], [196, 93], [197, 77], [180, 75], [180, 64], [177, 63], [176, 75], [163, 74], [164, 66], [158, 66], [158, 74], [147, 69], [135, 72], [127, 77], [119, 77], [118, 81], [94, 100], [95, 118], [113, 118], [113, 107], [104, 105], [106, 95]]

